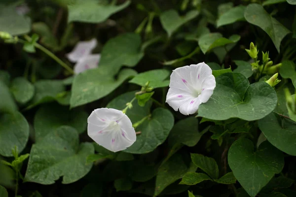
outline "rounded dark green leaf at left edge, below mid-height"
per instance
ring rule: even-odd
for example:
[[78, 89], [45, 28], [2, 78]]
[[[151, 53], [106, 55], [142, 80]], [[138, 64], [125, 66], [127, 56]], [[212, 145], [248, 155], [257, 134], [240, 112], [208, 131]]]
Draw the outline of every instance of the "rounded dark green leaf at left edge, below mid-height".
[[0, 115], [0, 155], [12, 157], [12, 149], [22, 152], [29, 139], [29, 124], [18, 111]]

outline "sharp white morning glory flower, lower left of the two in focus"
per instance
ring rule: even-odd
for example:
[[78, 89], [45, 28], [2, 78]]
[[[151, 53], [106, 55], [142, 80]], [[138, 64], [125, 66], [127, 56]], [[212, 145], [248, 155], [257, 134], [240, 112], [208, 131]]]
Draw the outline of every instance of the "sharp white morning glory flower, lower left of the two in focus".
[[136, 132], [132, 122], [120, 110], [95, 109], [88, 117], [87, 122], [87, 134], [110, 151], [124, 150], [136, 141]]

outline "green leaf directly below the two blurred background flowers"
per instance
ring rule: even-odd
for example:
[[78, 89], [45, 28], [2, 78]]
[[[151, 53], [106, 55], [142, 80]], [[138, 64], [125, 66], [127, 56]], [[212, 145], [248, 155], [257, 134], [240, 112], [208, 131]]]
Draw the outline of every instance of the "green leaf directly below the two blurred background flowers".
[[118, 78], [114, 79], [110, 74], [101, 74], [100, 69], [88, 69], [74, 77], [70, 99], [71, 108], [109, 95], [127, 78], [137, 74], [133, 69], [123, 69]]

